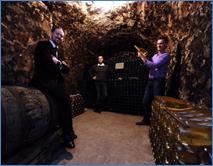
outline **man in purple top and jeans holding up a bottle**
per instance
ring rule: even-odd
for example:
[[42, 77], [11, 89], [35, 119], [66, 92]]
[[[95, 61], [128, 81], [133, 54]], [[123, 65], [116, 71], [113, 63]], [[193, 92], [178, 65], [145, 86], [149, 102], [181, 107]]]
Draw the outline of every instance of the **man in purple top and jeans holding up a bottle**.
[[157, 40], [157, 53], [152, 57], [152, 61], [147, 59], [147, 53], [138, 51], [138, 57], [150, 69], [149, 80], [146, 85], [143, 97], [144, 118], [136, 125], [149, 125], [151, 117], [151, 103], [155, 96], [163, 96], [165, 91], [165, 76], [170, 60], [169, 53], [166, 52], [168, 39], [159, 37]]

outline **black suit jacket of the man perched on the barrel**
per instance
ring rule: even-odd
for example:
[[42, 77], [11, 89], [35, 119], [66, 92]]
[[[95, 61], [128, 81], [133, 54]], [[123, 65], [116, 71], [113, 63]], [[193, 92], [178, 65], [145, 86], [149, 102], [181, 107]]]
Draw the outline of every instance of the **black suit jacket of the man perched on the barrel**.
[[[59, 64], [53, 62], [52, 55], [56, 55], [56, 50], [49, 40], [37, 43], [34, 54], [34, 75], [30, 85], [38, 88], [48, 86], [53, 86], [54, 88], [59, 83], [63, 84], [64, 78], [62, 73], [67, 74], [69, 68], [63, 65], [60, 69]], [[60, 53], [58, 55], [60, 61], [64, 60], [64, 57]]]

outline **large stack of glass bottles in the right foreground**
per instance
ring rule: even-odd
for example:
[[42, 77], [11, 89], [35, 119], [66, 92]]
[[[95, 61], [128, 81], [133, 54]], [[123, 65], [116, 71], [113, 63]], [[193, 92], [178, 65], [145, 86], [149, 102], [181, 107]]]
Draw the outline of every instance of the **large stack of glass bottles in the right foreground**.
[[210, 110], [158, 96], [152, 103], [149, 135], [156, 164], [211, 164]]

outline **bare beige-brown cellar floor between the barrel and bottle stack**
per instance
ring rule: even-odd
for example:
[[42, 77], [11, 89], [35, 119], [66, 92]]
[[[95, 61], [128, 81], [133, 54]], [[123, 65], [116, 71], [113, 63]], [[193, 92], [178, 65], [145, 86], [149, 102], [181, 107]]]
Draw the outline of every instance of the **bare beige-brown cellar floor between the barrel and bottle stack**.
[[140, 116], [92, 109], [74, 118], [74, 149], [60, 149], [52, 164], [154, 164], [148, 126]]

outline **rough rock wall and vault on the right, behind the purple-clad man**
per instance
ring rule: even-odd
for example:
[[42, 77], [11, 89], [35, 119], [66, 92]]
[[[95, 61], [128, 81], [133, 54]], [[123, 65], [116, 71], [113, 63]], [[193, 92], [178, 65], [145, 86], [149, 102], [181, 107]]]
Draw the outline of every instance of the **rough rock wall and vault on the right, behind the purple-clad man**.
[[134, 2], [97, 21], [99, 43], [105, 53], [137, 44], [153, 55], [156, 38], [168, 36], [167, 95], [211, 107], [211, 13], [211, 2]]

